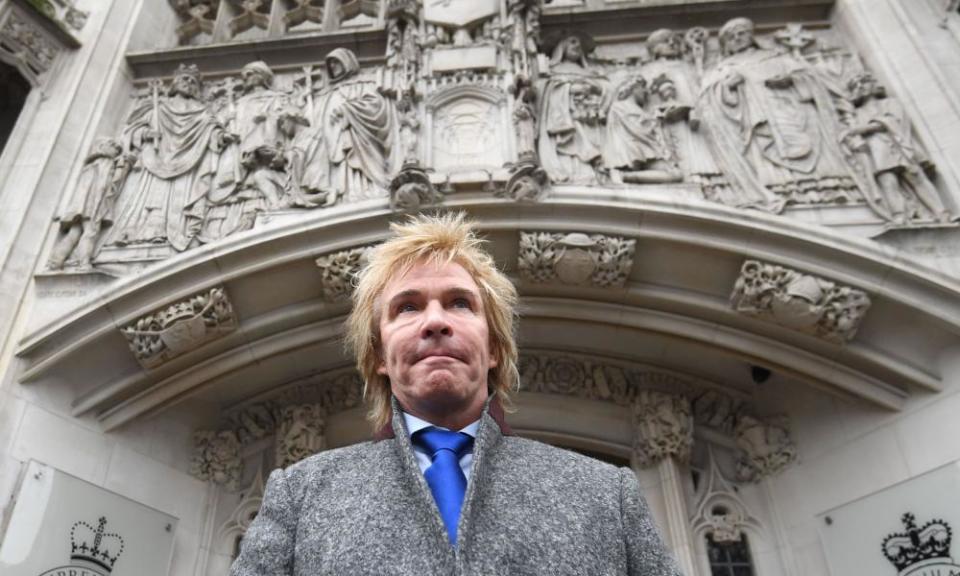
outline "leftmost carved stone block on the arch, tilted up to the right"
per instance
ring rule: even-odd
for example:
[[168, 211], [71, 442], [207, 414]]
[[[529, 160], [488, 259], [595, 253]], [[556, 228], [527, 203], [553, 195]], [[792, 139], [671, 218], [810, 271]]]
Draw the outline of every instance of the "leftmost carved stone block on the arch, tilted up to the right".
[[237, 318], [223, 288], [212, 288], [121, 328], [144, 368], [156, 368], [233, 332]]

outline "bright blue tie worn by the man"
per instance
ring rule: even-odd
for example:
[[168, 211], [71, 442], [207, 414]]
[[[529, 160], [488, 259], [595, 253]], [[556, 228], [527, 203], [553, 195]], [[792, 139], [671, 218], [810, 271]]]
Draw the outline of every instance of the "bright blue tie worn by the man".
[[450, 543], [457, 545], [457, 522], [467, 491], [467, 477], [460, 469], [460, 457], [473, 444], [473, 437], [461, 432], [424, 428], [413, 435], [413, 443], [430, 454], [430, 467], [423, 476], [427, 479], [440, 517], [447, 527]]

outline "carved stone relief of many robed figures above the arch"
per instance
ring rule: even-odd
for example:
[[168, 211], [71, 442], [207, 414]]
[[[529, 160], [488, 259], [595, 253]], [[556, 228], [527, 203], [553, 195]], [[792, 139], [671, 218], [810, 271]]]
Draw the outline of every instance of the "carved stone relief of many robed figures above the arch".
[[[182, 41], [214, 34], [224, 1], [175, 0]], [[275, 4], [232, 8], [234, 33]], [[331, 17], [315, 1], [281, 4], [270, 17], [286, 24], [270, 30]], [[340, 24], [384, 18], [382, 64], [336, 48], [302, 71], [251, 62], [208, 80], [184, 63], [148, 81], [78, 170], [50, 268], [125, 273], [275, 211], [370, 200], [413, 211], [461, 190], [535, 202], [566, 185], [678, 184], [775, 214], [854, 209], [871, 233], [956, 225], [904, 107], [825, 32], [758, 35], [734, 18], [716, 33], [655, 30], [639, 56], [613, 60], [583, 32], [542, 34], [541, 9], [393, 0], [379, 16], [349, 2]]]

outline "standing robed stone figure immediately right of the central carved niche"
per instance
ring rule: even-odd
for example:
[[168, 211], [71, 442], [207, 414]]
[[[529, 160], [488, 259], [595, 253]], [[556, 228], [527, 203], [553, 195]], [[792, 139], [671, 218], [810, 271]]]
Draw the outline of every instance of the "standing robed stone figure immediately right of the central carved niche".
[[537, 90], [540, 162], [555, 183], [597, 181], [610, 90], [588, 64], [586, 48], [580, 36], [562, 39], [553, 50], [550, 76]]

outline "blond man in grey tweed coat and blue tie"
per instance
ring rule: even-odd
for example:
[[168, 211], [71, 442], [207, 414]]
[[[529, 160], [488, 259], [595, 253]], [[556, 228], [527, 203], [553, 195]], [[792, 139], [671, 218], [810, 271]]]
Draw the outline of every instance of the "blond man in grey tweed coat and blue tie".
[[394, 225], [347, 321], [378, 432], [276, 470], [233, 576], [677, 576], [633, 473], [511, 435], [517, 294], [463, 215]]

